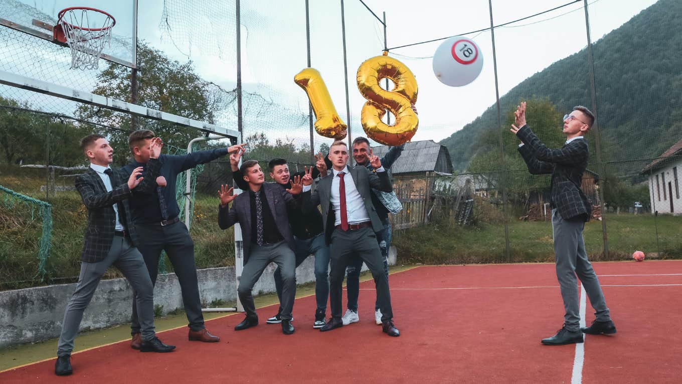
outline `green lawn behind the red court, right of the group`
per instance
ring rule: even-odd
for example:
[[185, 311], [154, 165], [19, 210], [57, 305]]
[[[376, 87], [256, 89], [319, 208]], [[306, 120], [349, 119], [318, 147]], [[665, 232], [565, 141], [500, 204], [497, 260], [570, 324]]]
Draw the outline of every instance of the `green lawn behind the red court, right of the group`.
[[[604, 256], [602, 221], [589, 221], [585, 225], [585, 247], [591, 260], [630, 258], [636, 250], [660, 258], [682, 257], [682, 217], [607, 215], [606, 225], [608, 257]], [[394, 233], [393, 244], [401, 262], [411, 264], [554, 260], [549, 221], [512, 220], [509, 223], [510, 260], [505, 259], [502, 223], [411, 228]]]

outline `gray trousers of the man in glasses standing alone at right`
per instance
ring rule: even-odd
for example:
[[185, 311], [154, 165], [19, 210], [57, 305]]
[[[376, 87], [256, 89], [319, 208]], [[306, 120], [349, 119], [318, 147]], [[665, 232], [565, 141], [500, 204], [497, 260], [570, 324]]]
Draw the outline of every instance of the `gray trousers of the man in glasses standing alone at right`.
[[587, 297], [595, 310], [597, 321], [609, 321], [608, 307], [604, 301], [602, 286], [592, 264], [587, 260], [582, 230], [582, 220], [564, 220], [556, 209], [552, 209], [552, 232], [554, 235], [554, 257], [557, 262], [557, 279], [561, 298], [566, 311], [564, 326], [568, 331], [580, 331], [580, 303], [578, 301], [578, 280], [582, 283]]

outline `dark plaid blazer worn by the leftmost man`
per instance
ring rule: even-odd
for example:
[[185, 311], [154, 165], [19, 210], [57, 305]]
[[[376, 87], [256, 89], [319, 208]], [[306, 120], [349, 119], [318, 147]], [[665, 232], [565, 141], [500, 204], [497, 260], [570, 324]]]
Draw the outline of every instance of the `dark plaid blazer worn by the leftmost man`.
[[[149, 164], [152, 163], [154, 165], [147, 167], [146, 174], [143, 174], [144, 180], [135, 189], [144, 190], [153, 187], [153, 181], [159, 174], [161, 164], [158, 159], [150, 159]], [[121, 169], [117, 169], [113, 170], [110, 178], [113, 187], [110, 192], [106, 191], [102, 178], [92, 168], [88, 168], [85, 174], [76, 178], [76, 189], [80, 193], [80, 198], [88, 212], [85, 241], [83, 242], [83, 251], [80, 253], [80, 260], [83, 262], [99, 262], [108, 255], [116, 226], [116, 212], [113, 205], [119, 202], [122, 203], [125, 218], [127, 218], [127, 222], [123, 222], [125, 230], [130, 233], [130, 240], [133, 245], [137, 241], [135, 226], [132, 224], [132, 215], [127, 201], [130, 197], [128, 176], [125, 176]], [[123, 219], [122, 216], [121, 219]]]

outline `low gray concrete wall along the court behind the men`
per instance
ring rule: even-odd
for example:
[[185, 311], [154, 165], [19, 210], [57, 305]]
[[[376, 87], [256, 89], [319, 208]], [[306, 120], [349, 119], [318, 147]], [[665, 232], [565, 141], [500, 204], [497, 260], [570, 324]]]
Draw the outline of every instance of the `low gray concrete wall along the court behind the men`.
[[[396, 264], [396, 249], [391, 247], [389, 264]], [[254, 286], [254, 295], [275, 291], [270, 264]], [[366, 269], [366, 266], [363, 266]], [[200, 269], [197, 271], [201, 301], [237, 300], [235, 268]], [[299, 284], [313, 282], [314, 258], [304, 261], [296, 270]], [[0, 292], [0, 348], [27, 342], [40, 342], [59, 337], [66, 304], [76, 284], [60, 284]], [[183, 307], [180, 285], [175, 274], [159, 275], [154, 288], [154, 304], [164, 306], [164, 314]], [[100, 329], [129, 323], [132, 311], [132, 288], [126, 279], [100, 282], [90, 305], [85, 310], [81, 329]]]

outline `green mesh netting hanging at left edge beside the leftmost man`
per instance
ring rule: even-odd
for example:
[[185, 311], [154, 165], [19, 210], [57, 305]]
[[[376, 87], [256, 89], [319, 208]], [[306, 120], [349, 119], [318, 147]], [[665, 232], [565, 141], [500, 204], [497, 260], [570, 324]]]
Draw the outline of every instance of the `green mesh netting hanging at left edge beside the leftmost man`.
[[52, 205], [48, 202], [22, 195], [1, 185], [0, 191], [3, 191], [5, 195], [0, 200], [5, 207], [14, 208], [16, 204], [24, 204], [31, 210], [31, 220], [35, 220], [35, 208], [38, 208], [38, 214], [40, 219], [42, 219], [42, 232], [38, 239], [38, 271], [35, 273], [34, 278], [40, 276], [40, 280], [44, 281], [45, 274], [47, 273], [45, 263], [50, 254], [50, 241], [52, 238]]

